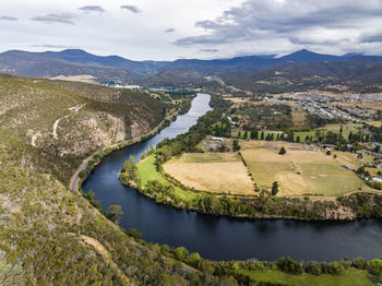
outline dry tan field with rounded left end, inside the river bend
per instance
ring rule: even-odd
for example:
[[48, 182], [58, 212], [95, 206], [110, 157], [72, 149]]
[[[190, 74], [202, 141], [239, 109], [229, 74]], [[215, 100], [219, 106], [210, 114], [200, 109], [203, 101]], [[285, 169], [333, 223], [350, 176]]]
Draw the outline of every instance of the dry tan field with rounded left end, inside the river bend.
[[252, 180], [237, 154], [183, 154], [166, 163], [164, 169], [184, 186], [196, 190], [254, 194]]

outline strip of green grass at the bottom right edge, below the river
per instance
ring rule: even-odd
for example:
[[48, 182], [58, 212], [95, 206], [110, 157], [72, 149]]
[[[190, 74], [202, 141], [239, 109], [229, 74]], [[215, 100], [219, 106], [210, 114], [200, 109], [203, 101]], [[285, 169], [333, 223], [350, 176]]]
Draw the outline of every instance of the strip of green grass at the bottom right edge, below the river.
[[366, 271], [349, 269], [342, 275], [293, 275], [280, 271], [240, 271], [256, 282], [272, 282], [296, 286], [372, 286]]

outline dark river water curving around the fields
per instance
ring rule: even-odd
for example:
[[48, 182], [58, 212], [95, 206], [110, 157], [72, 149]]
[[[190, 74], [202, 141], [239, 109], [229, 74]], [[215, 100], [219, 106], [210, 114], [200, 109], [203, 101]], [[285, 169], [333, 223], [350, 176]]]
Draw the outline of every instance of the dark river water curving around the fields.
[[165, 138], [184, 133], [198, 118], [211, 110], [210, 95], [199, 94], [187, 115], [178, 117], [156, 136], [111, 153], [95, 168], [83, 184], [84, 192], [93, 189], [103, 208], [122, 205], [121, 226], [136, 228], [143, 239], [184, 246], [211, 260], [276, 260], [290, 255], [299, 261], [333, 261], [382, 257], [382, 219], [357, 222], [299, 222], [288, 219], [239, 219], [216, 217], [174, 210], [156, 204], [136, 191], [124, 187], [118, 174], [124, 160]]

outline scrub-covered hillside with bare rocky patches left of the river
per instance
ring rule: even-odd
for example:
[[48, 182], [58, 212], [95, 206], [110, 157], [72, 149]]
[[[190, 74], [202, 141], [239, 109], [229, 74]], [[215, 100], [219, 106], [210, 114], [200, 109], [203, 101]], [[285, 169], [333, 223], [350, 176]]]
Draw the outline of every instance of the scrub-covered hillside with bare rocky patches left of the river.
[[84, 156], [164, 119], [148, 95], [95, 87], [0, 74], [1, 285], [158, 284], [177, 273], [67, 187]]

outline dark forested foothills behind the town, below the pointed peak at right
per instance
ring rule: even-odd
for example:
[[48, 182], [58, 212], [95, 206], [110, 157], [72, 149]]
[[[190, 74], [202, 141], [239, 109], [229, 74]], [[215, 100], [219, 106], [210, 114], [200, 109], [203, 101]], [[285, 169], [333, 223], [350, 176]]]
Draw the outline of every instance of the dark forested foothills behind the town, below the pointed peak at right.
[[280, 62], [263, 70], [237, 68], [218, 75], [226, 84], [253, 93], [330, 90], [332, 85], [357, 93], [374, 93], [382, 91], [381, 72], [380, 62], [357, 58], [339, 62]]

